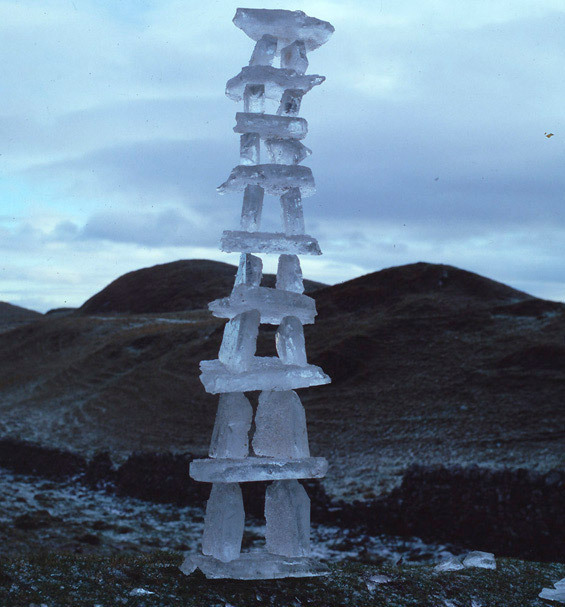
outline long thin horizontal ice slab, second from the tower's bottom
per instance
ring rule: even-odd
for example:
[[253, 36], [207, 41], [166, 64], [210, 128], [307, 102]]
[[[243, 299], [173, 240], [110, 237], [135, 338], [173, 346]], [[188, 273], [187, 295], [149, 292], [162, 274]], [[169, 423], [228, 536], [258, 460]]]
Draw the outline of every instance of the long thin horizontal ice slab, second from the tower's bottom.
[[250, 483], [298, 478], [323, 478], [328, 471], [324, 457], [279, 459], [245, 457], [243, 459], [195, 459], [190, 476], [201, 483]]

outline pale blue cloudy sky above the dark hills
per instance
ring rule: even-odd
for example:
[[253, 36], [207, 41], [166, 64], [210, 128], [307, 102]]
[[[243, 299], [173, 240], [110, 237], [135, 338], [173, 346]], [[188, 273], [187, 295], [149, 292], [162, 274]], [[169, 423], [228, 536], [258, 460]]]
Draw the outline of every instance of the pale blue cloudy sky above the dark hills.
[[[77, 306], [137, 268], [237, 261], [218, 241], [241, 199], [215, 191], [238, 163], [225, 82], [253, 49], [237, 6], [0, 0], [0, 300]], [[309, 278], [429, 261], [565, 300], [563, 0], [244, 6], [336, 28], [301, 112]]]

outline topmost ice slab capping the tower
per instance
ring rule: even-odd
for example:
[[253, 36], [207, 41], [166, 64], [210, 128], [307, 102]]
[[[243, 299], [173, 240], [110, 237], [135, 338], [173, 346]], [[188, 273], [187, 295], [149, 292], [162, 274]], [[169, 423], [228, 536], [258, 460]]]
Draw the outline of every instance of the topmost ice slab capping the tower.
[[234, 24], [252, 40], [270, 34], [278, 40], [278, 51], [295, 40], [303, 40], [313, 51], [327, 42], [335, 29], [331, 23], [309, 17], [302, 11], [265, 8], [238, 8]]

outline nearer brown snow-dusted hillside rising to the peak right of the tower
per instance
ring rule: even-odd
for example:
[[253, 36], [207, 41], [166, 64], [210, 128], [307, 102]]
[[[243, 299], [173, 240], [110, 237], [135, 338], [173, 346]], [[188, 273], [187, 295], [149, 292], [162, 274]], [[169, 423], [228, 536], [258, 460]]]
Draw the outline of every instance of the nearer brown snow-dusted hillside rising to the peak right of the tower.
[[[158, 280], [170, 265], [151, 269], [161, 302], [179, 292]], [[214, 288], [233, 276], [223, 266], [210, 266], [220, 271], [207, 279]], [[427, 263], [312, 295], [309, 359], [333, 382], [301, 397], [332, 494], [371, 497], [413, 463], [563, 466], [565, 305]], [[259, 355], [274, 353], [274, 330], [261, 328]], [[203, 309], [10, 331], [0, 336], [0, 434], [117, 459], [205, 453], [217, 398], [204, 393], [198, 362], [217, 356], [222, 331]]]

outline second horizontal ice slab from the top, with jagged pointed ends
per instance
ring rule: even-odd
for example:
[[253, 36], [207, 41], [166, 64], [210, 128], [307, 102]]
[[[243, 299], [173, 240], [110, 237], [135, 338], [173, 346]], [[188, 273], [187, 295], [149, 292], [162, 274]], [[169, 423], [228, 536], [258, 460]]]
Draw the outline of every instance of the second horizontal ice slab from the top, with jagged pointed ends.
[[228, 80], [226, 95], [234, 101], [241, 101], [248, 84], [262, 84], [265, 97], [279, 101], [286, 89], [300, 90], [307, 93], [324, 82], [324, 76], [318, 74], [298, 74], [294, 70], [285, 70], [270, 65], [249, 65], [242, 68], [237, 76]]

